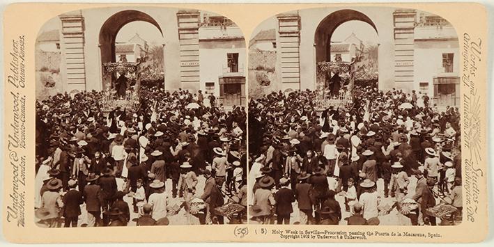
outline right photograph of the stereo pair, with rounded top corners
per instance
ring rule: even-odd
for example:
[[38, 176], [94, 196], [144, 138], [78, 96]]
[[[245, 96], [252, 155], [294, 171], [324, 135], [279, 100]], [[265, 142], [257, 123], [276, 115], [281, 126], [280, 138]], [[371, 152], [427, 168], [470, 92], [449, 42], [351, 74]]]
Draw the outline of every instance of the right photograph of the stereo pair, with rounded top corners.
[[461, 54], [447, 19], [311, 8], [250, 37], [249, 223], [461, 223]]

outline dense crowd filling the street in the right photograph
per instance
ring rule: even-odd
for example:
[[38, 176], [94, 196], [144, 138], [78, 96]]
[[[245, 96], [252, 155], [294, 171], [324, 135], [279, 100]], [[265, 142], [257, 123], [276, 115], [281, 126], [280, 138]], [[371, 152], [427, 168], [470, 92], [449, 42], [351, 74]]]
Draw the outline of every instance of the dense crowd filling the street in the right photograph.
[[316, 93], [249, 102], [250, 223], [461, 221], [457, 107], [438, 107], [415, 90], [355, 86], [348, 105], [316, 109]]

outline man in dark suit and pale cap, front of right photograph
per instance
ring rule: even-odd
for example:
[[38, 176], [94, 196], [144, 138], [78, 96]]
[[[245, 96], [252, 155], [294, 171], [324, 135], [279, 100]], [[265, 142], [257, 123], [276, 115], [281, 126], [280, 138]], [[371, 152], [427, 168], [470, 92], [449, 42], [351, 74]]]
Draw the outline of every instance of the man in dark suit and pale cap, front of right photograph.
[[290, 180], [287, 178], [282, 177], [279, 180], [279, 184], [281, 189], [275, 194], [277, 223], [278, 225], [289, 225], [290, 214], [293, 213], [292, 202], [295, 202], [295, 194], [291, 189], [288, 189]]

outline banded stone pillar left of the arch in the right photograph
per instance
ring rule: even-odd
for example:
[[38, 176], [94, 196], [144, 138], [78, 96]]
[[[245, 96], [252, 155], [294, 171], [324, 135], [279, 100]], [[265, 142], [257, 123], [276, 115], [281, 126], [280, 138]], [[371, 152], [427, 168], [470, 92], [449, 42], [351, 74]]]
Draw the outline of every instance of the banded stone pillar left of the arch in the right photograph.
[[298, 12], [277, 15], [281, 90], [300, 89], [300, 15]]

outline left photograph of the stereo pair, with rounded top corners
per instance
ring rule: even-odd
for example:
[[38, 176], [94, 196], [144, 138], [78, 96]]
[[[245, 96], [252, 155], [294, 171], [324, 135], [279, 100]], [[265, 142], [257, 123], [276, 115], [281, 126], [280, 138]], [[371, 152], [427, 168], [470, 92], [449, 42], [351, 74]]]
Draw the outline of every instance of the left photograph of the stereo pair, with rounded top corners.
[[36, 225], [247, 222], [242, 31], [178, 8], [90, 8], [36, 40]]

